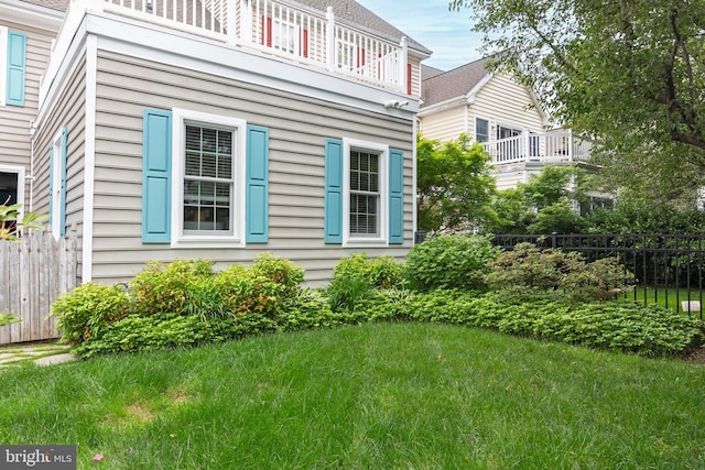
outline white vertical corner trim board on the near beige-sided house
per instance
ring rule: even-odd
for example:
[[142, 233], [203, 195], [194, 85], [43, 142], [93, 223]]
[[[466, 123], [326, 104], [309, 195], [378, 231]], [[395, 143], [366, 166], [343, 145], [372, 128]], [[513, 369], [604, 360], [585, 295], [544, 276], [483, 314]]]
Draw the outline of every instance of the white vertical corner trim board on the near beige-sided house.
[[84, 141], [84, 226], [80, 280], [93, 280], [93, 236], [96, 182], [96, 100], [98, 48], [95, 36], [86, 41], [86, 116]]

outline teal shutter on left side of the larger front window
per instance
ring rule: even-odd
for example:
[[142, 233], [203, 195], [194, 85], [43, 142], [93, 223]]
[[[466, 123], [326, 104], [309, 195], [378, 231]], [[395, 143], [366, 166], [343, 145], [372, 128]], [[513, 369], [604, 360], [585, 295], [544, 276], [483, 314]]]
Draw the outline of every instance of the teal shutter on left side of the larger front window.
[[142, 242], [171, 242], [172, 113], [145, 109], [142, 143]]

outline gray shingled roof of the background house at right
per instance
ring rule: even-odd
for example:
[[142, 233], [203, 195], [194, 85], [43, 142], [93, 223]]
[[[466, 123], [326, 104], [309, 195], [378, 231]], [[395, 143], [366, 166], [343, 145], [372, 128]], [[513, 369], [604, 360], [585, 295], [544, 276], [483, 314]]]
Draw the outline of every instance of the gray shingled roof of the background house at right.
[[489, 58], [480, 58], [448, 72], [422, 65], [423, 108], [467, 95], [489, 74], [485, 68], [488, 61]]

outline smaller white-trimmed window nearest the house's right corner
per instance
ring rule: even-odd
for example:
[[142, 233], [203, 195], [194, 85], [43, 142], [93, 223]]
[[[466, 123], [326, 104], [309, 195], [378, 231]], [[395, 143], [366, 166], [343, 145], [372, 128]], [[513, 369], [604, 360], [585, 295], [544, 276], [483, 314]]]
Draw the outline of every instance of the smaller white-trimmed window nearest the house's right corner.
[[344, 139], [344, 244], [387, 243], [389, 146]]

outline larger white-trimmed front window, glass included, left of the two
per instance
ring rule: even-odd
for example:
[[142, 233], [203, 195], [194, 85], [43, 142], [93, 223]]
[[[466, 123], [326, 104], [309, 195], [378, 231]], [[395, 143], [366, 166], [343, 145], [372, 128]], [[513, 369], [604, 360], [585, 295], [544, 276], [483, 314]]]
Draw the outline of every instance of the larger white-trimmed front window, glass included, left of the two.
[[172, 245], [242, 245], [246, 121], [173, 113]]

